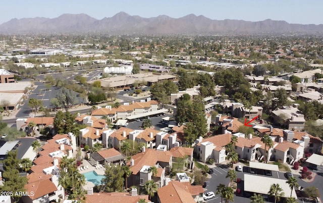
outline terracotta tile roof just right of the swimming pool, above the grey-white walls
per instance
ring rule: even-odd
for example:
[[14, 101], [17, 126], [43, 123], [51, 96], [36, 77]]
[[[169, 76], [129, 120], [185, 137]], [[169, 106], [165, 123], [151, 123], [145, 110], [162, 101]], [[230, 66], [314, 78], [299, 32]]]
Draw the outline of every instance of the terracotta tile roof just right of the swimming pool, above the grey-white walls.
[[138, 153], [132, 156], [134, 160], [134, 166], [130, 166], [131, 160], [128, 161], [127, 165], [130, 166], [130, 170], [136, 175], [143, 166], [155, 166], [159, 162], [169, 163], [172, 156], [169, 151], [157, 151], [155, 149], [146, 148], [144, 153]]

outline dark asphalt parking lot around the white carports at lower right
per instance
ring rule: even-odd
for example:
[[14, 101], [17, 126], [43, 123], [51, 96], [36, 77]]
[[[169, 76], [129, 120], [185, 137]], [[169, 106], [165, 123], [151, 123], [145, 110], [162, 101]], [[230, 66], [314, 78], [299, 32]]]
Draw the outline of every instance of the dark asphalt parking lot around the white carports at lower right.
[[[227, 165], [223, 165], [223, 164], [217, 164], [216, 167], [212, 167], [211, 168], [213, 170], [213, 173], [210, 174], [211, 178], [209, 178], [207, 181], [206, 181], [206, 190], [204, 191], [204, 193], [206, 192], [214, 192], [216, 193], [217, 192], [217, 186], [219, 184], [224, 184], [224, 185], [229, 185], [230, 184], [230, 180], [228, 178], [226, 178], [226, 175], [229, 171], [229, 168]], [[247, 174], [252, 174], [252, 175], [255, 175], [255, 176], [267, 176], [267, 177], [272, 177], [272, 178], [277, 178], [277, 179], [282, 179], [282, 180], [286, 180], [287, 181], [287, 177], [285, 175], [285, 172], [277, 172], [277, 171], [271, 171], [271, 174], [270, 173], [266, 173], [264, 170], [259, 170], [259, 169], [255, 169], [254, 170], [254, 173], [252, 170], [250, 170], [249, 167], [247, 166], [244, 166], [242, 168], [242, 172], [240, 171], [237, 171], [236, 170], [236, 174], [237, 174], [237, 178], [240, 178], [241, 179], [241, 182], [238, 183], [238, 188], [241, 189], [241, 191], [244, 191], [243, 190], [243, 179], [244, 179], [244, 174], [247, 173]], [[251, 173], [250, 173], [251, 171]], [[304, 182], [303, 180], [300, 179], [300, 175], [298, 174], [293, 174], [294, 177], [296, 177], [296, 179], [298, 180], [298, 184], [299, 186], [302, 186], [302, 187], [309, 187], [309, 186], [315, 186], [319, 189], [320, 193], [322, 192], [322, 189], [323, 189], [323, 173], [317, 173], [315, 179], [313, 182]], [[257, 180], [255, 179], [254, 180], [255, 184], [257, 184]], [[249, 196], [250, 194], [246, 194], [244, 192], [242, 192], [240, 195], [234, 195], [234, 202], [242, 202], [242, 203], [249, 203], [250, 202], [250, 198], [247, 197]], [[266, 196], [266, 195], [264, 195]], [[305, 200], [303, 201], [302, 198], [299, 198], [298, 199], [299, 202], [306, 202]], [[206, 200], [206, 202], [209, 202], [209, 203], [221, 203], [221, 196], [220, 195], [217, 195], [212, 198], [212, 199], [209, 199], [209, 200]], [[266, 199], [266, 202], [273, 202], [273, 201], [268, 201], [268, 199]]]

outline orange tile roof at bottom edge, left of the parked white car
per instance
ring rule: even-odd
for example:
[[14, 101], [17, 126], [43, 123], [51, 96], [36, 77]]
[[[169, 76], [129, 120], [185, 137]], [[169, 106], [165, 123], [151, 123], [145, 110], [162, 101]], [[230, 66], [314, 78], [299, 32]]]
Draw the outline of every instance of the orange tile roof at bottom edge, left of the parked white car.
[[[195, 203], [190, 189], [188, 189], [190, 186], [189, 183], [185, 184], [179, 181], [169, 182], [168, 185], [159, 188], [157, 191], [160, 203]], [[202, 186], [199, 187], [201, 187], [201, 193], [203, 193]]]

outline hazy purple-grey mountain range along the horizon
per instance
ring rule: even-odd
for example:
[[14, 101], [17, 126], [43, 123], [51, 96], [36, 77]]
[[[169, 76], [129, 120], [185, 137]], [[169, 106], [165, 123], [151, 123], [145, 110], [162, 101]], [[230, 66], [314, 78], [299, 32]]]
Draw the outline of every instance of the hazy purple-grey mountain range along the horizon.
[[152, 18], [120, 12], [97, 20], [86, 14], [63, 14], [57, 18], [11, 19], [0, 33], [107, 33], [107, 34], [217, 34], [259, 32], [323, 32], [323, 25], [290, 24], [286, 21], [211, 20], [190, 14], [182, 18], [161, 15]]

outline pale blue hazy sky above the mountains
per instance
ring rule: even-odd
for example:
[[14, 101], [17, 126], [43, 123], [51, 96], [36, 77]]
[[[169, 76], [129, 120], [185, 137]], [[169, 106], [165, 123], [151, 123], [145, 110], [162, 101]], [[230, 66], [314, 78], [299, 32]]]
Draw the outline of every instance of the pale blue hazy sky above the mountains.
[[195, 14], [214, 20], [323, 24], [322, 0], [3, 0], [1, 5], [0, 24], [12, 18], [55, 18], [65, 13], [85, 13], [102, 19], [121, 11], [141, 17]]

